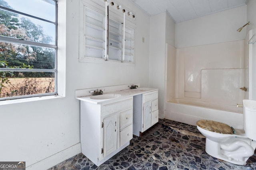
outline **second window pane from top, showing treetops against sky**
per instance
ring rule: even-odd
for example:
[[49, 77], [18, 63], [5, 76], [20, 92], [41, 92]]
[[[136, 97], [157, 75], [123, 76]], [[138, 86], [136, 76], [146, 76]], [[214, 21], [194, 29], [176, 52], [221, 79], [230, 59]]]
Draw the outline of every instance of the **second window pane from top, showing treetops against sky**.
[[55, 25], [0, 9], [0, 35], [55, 45]]

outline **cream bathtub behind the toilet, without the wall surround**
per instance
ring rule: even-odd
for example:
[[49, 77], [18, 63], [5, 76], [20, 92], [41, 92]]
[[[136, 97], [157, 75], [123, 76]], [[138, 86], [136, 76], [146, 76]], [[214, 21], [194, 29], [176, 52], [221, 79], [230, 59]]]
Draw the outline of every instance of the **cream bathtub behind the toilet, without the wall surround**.
[[175, 99], [165, 103], [166, 119], [196, 125], [200, 119], [210, 119], [226, 123], [235, 129], [243, 129], [243, 109], [234, 105]]

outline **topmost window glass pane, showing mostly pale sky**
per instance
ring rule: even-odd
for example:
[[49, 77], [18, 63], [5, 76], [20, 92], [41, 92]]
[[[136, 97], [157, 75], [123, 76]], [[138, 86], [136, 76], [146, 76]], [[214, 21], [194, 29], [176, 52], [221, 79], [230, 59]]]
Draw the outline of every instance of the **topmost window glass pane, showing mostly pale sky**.
[[0, 0], [0, 5], [45, 20], [55, 21], [53, 0]]

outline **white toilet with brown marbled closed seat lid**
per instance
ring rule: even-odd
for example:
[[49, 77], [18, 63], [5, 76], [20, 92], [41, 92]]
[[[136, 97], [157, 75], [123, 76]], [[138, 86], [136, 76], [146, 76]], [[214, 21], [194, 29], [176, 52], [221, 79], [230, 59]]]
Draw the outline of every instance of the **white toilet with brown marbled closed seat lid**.
[[199, 120], [197, 129], [206, 137], [205, 151], [218, 159], [245, 165], [256, 148], [256, 100], [243, 100], [244, 129], [212, 120]]

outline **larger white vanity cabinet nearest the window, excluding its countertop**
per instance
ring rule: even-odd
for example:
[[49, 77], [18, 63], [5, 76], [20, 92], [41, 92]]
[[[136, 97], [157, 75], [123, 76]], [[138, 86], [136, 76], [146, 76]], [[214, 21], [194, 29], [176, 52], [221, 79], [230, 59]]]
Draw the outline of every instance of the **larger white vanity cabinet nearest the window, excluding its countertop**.
[[82, 153], [99, 166], [130, 144], [133, 97], [102, 104], [80, 102]]

